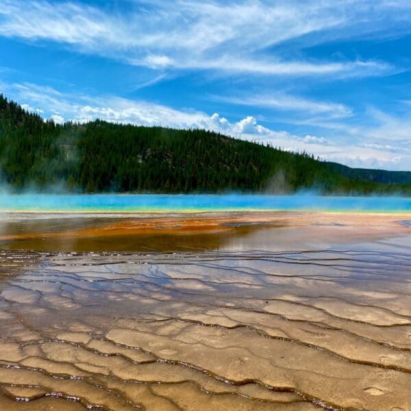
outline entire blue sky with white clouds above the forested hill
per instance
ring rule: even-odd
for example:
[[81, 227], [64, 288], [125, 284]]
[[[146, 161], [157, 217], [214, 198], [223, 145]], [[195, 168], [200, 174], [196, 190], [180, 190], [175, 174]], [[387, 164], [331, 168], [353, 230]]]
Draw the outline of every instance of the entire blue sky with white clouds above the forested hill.
[[411, 169], [411, 1], [0, 0], [0, 91]]

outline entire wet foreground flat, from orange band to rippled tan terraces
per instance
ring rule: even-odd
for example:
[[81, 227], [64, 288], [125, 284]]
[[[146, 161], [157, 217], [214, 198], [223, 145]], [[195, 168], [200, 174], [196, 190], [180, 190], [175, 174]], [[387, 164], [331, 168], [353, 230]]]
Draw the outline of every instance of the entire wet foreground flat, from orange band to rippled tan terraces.
[[411, 410], [410, 215], [40, 220], [0, 224], [0, 410]]

